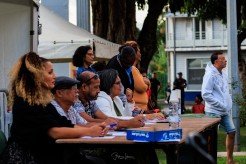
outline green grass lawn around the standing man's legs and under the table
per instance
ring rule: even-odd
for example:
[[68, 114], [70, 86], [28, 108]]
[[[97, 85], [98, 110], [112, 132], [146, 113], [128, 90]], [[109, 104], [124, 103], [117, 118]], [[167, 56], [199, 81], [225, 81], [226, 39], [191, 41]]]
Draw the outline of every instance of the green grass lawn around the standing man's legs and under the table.
[[[218, 152], [225, 152], [225, 137], [226, 134], [223, 129], [219, 129], [218, 132]], [[240, 128], [240, 149], [241, 151], [246, 151], [246, 127]], [[161, 149], [157, 149], [156, 153], [158, 155], [159, 164], [166, 164], [166, 155]], [[234, 160], [239, 162], [240, 164], [246, 164], [246, 156], [238, 156], [234, 157]], [[217, 158], [218, 164], [225, 164], [226, 157], [218, 157]]]

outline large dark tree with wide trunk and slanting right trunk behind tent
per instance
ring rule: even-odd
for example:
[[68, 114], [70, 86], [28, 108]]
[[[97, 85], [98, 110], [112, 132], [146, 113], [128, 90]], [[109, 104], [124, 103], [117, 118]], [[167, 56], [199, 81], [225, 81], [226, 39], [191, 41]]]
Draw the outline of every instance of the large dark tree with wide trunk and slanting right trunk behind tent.
[[[168, 0], [91, 0], [93, 33], [109, 41], [123, 44], [137, 40], [141, 67], [147, 69], [157, 51], [156, 30], [159, 15]], [[148, 5], [148, 14], [137, 38], [135, 4], [139, 9]]]

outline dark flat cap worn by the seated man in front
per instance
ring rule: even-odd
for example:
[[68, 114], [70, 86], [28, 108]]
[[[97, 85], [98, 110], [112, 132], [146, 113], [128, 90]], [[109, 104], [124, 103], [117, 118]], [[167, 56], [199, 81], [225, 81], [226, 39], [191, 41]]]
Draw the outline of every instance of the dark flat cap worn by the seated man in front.
[[66, 76], [58, 76], [56, 77], [55, 87], [51, 90], [52, 93], [55, 93], [58, 89], [69, 89], [75, 84], [79, 84], [80, 81], [72, 79]]

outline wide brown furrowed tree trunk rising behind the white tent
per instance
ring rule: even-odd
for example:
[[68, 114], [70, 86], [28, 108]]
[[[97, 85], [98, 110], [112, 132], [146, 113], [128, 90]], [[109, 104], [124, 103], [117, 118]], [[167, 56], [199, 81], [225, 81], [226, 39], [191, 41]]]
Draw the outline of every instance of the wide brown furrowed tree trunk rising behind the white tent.
[[136, 40], [135, 0], [91, 0], [93, 33], [114, 43]]

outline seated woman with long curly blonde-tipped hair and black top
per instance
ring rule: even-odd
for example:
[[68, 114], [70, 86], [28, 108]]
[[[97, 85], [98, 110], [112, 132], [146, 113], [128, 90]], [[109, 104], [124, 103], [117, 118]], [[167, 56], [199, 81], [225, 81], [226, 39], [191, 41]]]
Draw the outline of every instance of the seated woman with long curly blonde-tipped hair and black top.
[[101, 136], [105, 126], [75, 128], [70, 120], [59, 115], [50, 103], [53, 99], [50, 90], [56, 78], [52, 63], [29, 52], [13, 66], [10, 77], [13, 123], [0, 163], [86, 163], [77, 148], [67, 149], [55, 140]]

